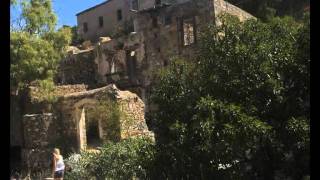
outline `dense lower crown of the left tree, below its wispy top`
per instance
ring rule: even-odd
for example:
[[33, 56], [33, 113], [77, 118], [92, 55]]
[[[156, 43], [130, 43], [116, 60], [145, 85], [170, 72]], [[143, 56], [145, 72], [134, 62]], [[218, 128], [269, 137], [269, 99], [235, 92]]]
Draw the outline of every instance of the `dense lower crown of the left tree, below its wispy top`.
[[23, 31], [11, 32], [11, 88], [24, 88], [34, 80], [53, 79], [70, 43], [70, 33], [68, 29], [60, 29], [38, 37]]

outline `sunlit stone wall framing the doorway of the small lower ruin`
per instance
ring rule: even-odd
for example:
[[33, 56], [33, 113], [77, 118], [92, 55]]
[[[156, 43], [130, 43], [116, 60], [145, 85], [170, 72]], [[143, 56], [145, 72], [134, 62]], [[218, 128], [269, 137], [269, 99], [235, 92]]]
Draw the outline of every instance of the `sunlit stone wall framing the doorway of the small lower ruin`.
[[[108, 85], [94, 90], [67, 94], [59, 99], [56, 111], [59, 112], [59, 118], [61, 119], [62, 127], [64, 127], [62, 133], [70, 141], [75, 142], [70, 146], [75, 149], [84, 148], [86, 135], [85, 130], [81, 130], [81, 128], [85, 127], [84, 124], [86, 122], [83, 119], [85, 117], [83, 113], [97, 106], [99, 101], [107, 100], [118, 102], [121, 105], [121, 112], [126, 114], [121, 118], [128, 118], [119, 120], [120, 138], [128, 137], [128, 135], [123, 135], [124, 130], [128, 130], [131, 133], [130, 135], [149, 135], [151, 133], [145, 123], [144, 103], [139, 96], [129, 91], [120, 91], [115, 85]], [[107, 137], [108, 128], [103, 123], [100, 126], [101, 137], [110, 139], [110, 137]]]

